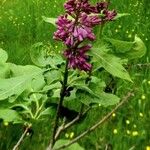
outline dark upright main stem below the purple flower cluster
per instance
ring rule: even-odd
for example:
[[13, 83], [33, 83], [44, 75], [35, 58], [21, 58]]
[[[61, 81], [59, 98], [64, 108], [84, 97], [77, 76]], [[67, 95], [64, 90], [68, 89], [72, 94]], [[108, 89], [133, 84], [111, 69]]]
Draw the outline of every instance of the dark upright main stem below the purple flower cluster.
[[55, 140], [55, 134], [56, 134], [56, 131], [57, 131], [57, 128], [58, 128], [59, 117], [60, 117], [60, 109], [61, 109], [64, 97], [65, 97], [67, 81], [68, 81], [68, 60], [66, 61], [66, 67], [65, 67], [65, 72], [64, 72], [64, 81], [62, 83], [62, 87], [61, 87], [61, 91], [60, 91], [60, 100], [59, 100], [59, 104], [58, 104], [58, 107], [57, 107], [56, 118], [55, 118], [54, 128], [53, 128], [53, 132], [52, 132], [52, 139], [50, 141], [50, 144], [49, 144], [47, 150], [51, 150], [52, 147], [55, 144], [55, 141], [56, 141]]

